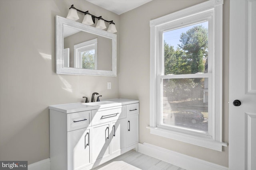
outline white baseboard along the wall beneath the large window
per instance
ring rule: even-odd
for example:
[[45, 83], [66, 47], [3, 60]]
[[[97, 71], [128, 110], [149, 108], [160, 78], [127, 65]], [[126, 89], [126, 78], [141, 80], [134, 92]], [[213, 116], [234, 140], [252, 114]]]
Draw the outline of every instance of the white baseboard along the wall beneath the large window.
[[227, 167], [187, 156], [172, 150], [164, 149], [148, 143], [139, 143], [138, 152], [157, 158], [164, 162], [179, 166], [186, 170], [228, 170]]

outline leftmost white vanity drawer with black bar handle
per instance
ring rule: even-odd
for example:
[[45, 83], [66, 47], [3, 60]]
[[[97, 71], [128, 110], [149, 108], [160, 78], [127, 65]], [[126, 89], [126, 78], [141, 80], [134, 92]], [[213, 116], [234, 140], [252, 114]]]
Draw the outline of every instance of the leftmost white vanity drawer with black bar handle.
[[91, 111], [69, 113], [67, 115], [67, 130], [73, 131], [87, 127], [90, 124], [90, 113]]

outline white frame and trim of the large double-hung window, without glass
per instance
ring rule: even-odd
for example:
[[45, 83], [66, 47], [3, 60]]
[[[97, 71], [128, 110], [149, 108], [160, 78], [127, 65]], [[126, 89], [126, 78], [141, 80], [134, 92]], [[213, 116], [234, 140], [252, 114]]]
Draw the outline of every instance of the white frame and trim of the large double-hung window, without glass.
[[[222, 6], [223, 0], [209, 0], [150, 21], [150, 133], [178, 141], [222, 151]], [[166, 127], [160, 124], [162, 78], [186, 78], [163, 74], [162, 33], [189, 24], [208, 21], [208, 73], [189, 74], [188, 78], [208, 77], [210, 123], [208, 133]]]

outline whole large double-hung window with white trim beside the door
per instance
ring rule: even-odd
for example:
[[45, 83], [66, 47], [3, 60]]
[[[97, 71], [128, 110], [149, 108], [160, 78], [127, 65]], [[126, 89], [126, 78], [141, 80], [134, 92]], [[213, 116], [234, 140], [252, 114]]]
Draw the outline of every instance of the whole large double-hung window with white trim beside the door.
[[222, 151], [222, 4], [150, 21], [150, 133]]

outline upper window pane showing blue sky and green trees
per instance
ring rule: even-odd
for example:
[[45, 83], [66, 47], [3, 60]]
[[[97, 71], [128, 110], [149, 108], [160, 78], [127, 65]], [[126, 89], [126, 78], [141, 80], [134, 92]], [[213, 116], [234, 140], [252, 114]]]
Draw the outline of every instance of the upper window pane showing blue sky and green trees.
[[208, 21], [163, 33], [164, 75], [208, 72]]

